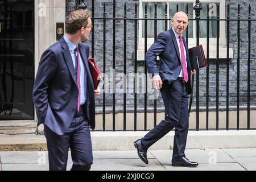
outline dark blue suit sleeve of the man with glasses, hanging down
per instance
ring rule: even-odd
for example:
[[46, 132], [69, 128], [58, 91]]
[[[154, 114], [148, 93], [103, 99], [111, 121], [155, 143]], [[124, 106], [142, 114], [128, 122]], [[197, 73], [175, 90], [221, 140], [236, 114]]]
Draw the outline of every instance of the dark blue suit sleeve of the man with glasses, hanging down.
[[57, 68], [55, 53], [47, 50], [43, 53], [39, 63], [38, 73], [36, 75], [33, 88], [33, 101], [38, 115], [39, 123], [44, 123], [48, 109], [48, 87]]

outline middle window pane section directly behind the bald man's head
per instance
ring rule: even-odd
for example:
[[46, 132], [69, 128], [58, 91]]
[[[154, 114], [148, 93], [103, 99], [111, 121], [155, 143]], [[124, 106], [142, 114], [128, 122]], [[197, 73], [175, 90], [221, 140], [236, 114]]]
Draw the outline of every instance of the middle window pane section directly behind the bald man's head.
[[[174, 2], [170, 2], [169, 3], [169, 16], [170, 18], [174, 17], [174, 14], [177, 12], [177, 4], [179, 6], [179, 11], [184, 11], [185, 13], [187, 13], [187, 4], [188, 4], [188, 16], [189, 19], [193, 19], [193, 3], [174, 3]], [[171, 22], [170, 23], [170, 27], [172, 27]], [[187, 30], [184, 31], [183, 36], [187, 35]], [[189, 22], [188, 24], [188, 37], [189, 38], [193, 38], [193, 22]]]

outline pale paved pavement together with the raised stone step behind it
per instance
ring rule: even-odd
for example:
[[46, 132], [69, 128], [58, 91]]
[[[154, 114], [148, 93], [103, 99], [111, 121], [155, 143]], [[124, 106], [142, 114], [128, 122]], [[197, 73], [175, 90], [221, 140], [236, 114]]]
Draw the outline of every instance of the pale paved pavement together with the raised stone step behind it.
[[[133, 142], [147, 132], [93, 131], [93, 171], [245, 171], [256, 170], [256, 130], [189, 131], [186, 154], [197, 168], [172, 167], [171, 143], [174, 131], [156, 142], [148, 151], [149, 164], [137, 156]], [[225, 149], [224, 149], [225, 148]], [[42, 150], [43, 152], [38, 152]], [[12, 152], [11, 152], [12, 151]], [[46, 138], [35, 134], [0, 134], [0, 170], [46, 171]], [[72, 166], [71, 155], [67, 169]]]

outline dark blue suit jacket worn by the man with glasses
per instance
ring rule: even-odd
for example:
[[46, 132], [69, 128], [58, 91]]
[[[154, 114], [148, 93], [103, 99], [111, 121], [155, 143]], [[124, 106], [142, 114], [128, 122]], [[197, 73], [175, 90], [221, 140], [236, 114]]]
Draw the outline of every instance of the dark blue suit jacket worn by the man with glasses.
[[[89, 46], [79, 44], [85, 71], [88, 65]], [[95, 127], [95, 101], [92, 76], [87, 74], [86, 114], [89, 125]], [[38, 115], [38, 125], [44, 123], [58, 135], [63, 135], [71, 125], [76, 112], [77, 98], [76, 72], [68, 44], [64, 38], [49, 47], [42, 55], [33, 88], [33, 100]]]

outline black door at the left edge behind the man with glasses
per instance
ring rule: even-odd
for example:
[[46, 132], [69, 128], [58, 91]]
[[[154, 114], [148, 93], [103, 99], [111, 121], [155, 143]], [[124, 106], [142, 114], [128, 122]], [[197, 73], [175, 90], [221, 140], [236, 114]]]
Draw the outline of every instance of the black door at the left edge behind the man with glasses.
[[0, 120], [34, 119], [34, 0], [0, 0]]

